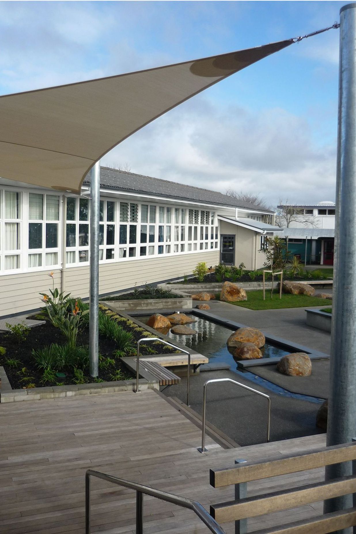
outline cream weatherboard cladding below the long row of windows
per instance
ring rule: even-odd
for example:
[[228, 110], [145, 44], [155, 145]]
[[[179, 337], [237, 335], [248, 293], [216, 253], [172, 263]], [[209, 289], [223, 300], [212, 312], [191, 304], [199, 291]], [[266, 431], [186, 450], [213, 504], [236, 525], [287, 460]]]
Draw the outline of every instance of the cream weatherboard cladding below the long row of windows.
[[[198, 262], [216, 265], [219, 251], [179, 254], [162, 258], [146, 258], [127, 262], [103, 263], [99, 267], [99, 294], [104, 295], [135, 284], [152, 284], [181, 277], [192, 272]], [[48, 271], [10, 274], [0, 278], [0, 317], [40, 308], [40, 293], [52, 288]], [[53, 272], [55, 287], [61, 288], [61, 272]], [[64, 276], [66, 292], [73, 296], [89, 296], [89, 266], [67, 268]]]

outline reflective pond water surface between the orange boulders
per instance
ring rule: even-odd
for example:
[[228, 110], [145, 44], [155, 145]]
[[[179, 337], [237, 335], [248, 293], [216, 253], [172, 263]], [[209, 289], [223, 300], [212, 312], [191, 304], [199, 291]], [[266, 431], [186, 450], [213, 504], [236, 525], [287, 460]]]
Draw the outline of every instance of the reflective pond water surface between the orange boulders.
[[[138, 317], [138, 319], [142, 323], [146, 323], [149, 316]], [[231, 356], [226, 347], [226, 341], [233, 330], [207, 319], [200, 317], [195, 317], [195, 319], [196, 322], [189, 323], [189, 327], [197, 332], [196, 335], [177, 335], [172, 334], [170, 331], [166, 335], [171, 337], [173, 342], [182, 343], [216, 363], [231, 364], [231, 366], [236, 367], [233, 356]], [[269, 344], [266, 344], [260, 350], [264, 358], [278, 358], [289, 354], [288, 351]]]

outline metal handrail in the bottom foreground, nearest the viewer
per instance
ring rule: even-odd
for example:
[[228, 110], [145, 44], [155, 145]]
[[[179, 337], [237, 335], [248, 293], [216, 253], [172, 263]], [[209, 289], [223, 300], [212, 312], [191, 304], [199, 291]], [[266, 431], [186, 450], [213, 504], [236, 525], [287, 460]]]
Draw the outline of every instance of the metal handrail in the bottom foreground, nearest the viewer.
[[173, 493], [168, 493], [166, 491], [156, 490], [150, 488], [150, 486], [144, 486], [142, 484], [137, 484], [136, 482], [129, 482], [128, 480], [123, 480], [123, 478], [99, 473], [92, 469], [88, 469], [86, 472], [86, 534], [90, 534], [90, 476], [102, 478], [113, 484], [136, 491], [136, 534], [143, 534], [143, 494], [167, 502], [172, 502], [172, 504], [182, 506], [183, 508], [188, 508], [206, 524], [211, 532], [214, 532], [214, 534], [226, 534], [225, 530], [216, 523], [200, 502], [188, 499], [187, 497], [180, 497], [179, 495], [174, 495]]

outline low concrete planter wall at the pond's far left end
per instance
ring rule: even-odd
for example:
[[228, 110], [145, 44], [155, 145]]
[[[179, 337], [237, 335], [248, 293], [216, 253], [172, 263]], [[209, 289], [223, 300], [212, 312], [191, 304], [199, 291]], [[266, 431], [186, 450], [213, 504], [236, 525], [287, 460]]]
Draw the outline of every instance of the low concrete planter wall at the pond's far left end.
[[142, 310], [191, 310], [192, 301], [188, 295], [180, 299], [142, 299], [142, 300], [120, 300], [120, 301], [100, 301], [113, 311], [142, 311]]

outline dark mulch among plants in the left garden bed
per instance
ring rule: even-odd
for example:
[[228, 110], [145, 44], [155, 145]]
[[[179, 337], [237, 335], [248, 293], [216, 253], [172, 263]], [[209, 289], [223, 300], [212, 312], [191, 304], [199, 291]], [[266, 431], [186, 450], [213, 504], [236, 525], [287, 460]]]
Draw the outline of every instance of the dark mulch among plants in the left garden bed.
[[[122, 328], [133, 334], [135, 347], [135, 343], [137, 343], [138, 339], [142, 337], [143, 333], [135, 332], [133, 327], [130, 327], [126, 324], [122, 324]], [[88, 345], [88, 339], [89, 329], [84, 328], [78, 335], [77, 345]], [[11, 387], [13, 389], [24, 388], [25, 383], [28, 382], [21, 381], [21, 379], [24, 379], [25, 377], [29, 376], [32, 378], [30, 382], [34, 383], [36, 387], [57, 386], [59, 384], [74, 384], [74, 373], [72, 368], [66, 368], [64, 370], [66, 372], [65, 378], [57, 378], [57, 382], [42, 383], [40, 381], [42, 378], [43, 371], [38, 370], [36, 368], [31, 353], [34, 348], [41, 349], [45, 347], [45, 345], [50, 345], [52, 343], [58, 343], [59, 345], [65, 344], [66, 339], [60, 333], [59, 329], [52, 326], [52, 324], [49, 322], [47, 322], [45, 325], [32, 327], [27, 336], [27, 339], [25, 341], [21, 341], [20, 343], [14, 341], [12, 335], [9, 335], [7, 333], [0, 334], [0, 347], [5, 347], [6, 349], [6, 354], [4, 356], [0, 356], [0, 365], [4, 367], [7, 378], [9, 378]], [[107, 339], [106, 337], [99, 336], [99, 353], [103, 357], [114, 358], [113, 352], [115, 350], [118, 350], [118, 348], [119, 347], [114, 341]], [[148, 350], [145, 348], [144, 345], [141, 345], [140, 352], [142, 355], [148, 355], [152, 354], [153, 349], [156, 354], [165, 354], [169, 351], [169, 348], [164, 347], [164, 345], [153, 345], [152, 343], [150, 343], [150, 349], [151, 350]], [[128, 356], [134, 356], [134, 352], [133, 354], [129, 354]], [[21, 364], [17, 368], [10, 367], [6, 364], [7, 358], [18, 359], [20, 360]], [[25, 372], [21, 372], [22, 367], [26, 367]], [[115, 358], [115, 365], [109, 366], [107, 369], [99, 368], [99, 377], [105, 382], [110, 382], [113, 380], [110, 375], [113, 374], [116, 370], [122, 371], [122, 373], [125, 375], [124, 378], [126, 380], [133, 378], [133, 374], [128, 370], [125, 365], [120, 362], [119, 358]], [[88, 382], [94, 381], [90, 377], [88, 370], [84, 370], [84, 376], [86, 376]]]

